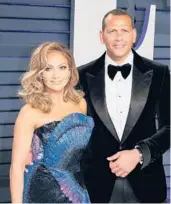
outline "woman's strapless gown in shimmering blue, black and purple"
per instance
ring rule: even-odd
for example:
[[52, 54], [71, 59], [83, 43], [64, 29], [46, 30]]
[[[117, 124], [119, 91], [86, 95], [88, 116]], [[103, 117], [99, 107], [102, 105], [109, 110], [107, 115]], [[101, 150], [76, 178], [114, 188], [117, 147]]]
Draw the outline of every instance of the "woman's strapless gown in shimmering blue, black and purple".
[[34, 131], [24, 203], [90, 203], [80, 161], [93, 126], [91, 117], [72, 113]]

